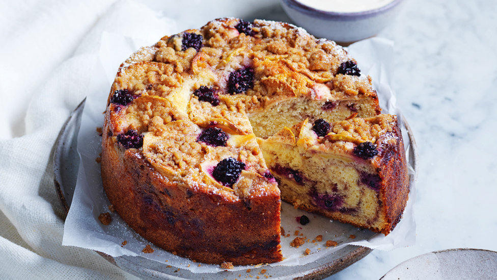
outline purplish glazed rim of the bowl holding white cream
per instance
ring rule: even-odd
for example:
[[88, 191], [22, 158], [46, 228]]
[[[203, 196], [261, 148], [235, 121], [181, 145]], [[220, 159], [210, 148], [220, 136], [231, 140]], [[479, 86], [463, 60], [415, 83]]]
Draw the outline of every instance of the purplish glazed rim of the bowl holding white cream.
[[386, 13], [392, 10], [394, 7], [398, 6], [403, 0], [394, 0], [393, 2], [368, 11], [362, 12], [352, 12], [352, 13], [341, 13], [341, 12], [328, 12], [323, 10], [318, 10], [302, 3], [297, 2], [296, 0], [281, 0], [282, 3], [286, 4], [288, 8], [297, 10], [300, 13], [317, 17], [320, 19], [329, 19], [335, 21], [347, 21], [347, 20], [357, 20], [357, 19], [366, 19], [370, 17], [377, 16], [378, 14]]

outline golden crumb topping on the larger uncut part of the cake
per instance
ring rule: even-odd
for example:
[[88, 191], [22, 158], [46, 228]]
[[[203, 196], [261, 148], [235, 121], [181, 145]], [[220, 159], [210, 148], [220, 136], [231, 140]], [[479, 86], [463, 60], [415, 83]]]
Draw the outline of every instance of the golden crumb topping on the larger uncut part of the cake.
[[[246, 166], [233, 184], [234, 194], [278, 192], [274, 180], [264, 176], [267, 167], [248, 116], [302, 96], [323, 99], [323, 104], [344, 96], [375, 96], [370, 77], [338, 74], [346, 62], [355, 63], [341, 46], [292, 24], [213, 20], [198, 30], [165, 36], [120, 66], [111, 92], [131, 97], [107, 109], [107, 135], [116, 143], [119, 135], [136, 131], [143, 146], [133, 147], [169, 180], [200, 179], [225, 191], [207, 167], [232, 157]], [[375, 125], [369, 132], [373, 136], [384, 129], [382, 122]], [[340, 123], [331, 130], [366, 138], [363, 126]], [[197, 141], [209, 128], [226, 133], [226, 145]]]

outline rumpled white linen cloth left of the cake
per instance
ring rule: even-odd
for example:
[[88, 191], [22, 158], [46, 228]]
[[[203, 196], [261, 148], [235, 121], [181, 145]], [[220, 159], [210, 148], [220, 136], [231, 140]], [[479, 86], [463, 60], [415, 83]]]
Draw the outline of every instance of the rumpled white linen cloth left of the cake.
[[0, 2], [0, 279], [137, 278], [61, 245], [52, 175], [53, 144], [87, 94], [101, 33], [156, 41], [176, 32], [143, 4], [115, 2]]

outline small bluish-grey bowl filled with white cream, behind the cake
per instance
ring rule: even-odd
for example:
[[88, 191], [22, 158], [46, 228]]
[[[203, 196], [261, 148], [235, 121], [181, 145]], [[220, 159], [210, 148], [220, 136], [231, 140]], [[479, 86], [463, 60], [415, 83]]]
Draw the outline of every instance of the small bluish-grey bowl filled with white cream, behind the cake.
[[352, 43], [377, 35], [403, 0], [280, 0], [293, 22], [312, 35]]

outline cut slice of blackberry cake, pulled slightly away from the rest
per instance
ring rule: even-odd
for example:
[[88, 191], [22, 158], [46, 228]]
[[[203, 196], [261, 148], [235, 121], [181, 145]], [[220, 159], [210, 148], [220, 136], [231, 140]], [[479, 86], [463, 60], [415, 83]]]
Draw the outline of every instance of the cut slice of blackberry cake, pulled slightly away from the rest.
[[296, 208], [385, 235], [399, 222], [409, 180], [396, 116], [305, 120], [259, 144]]

